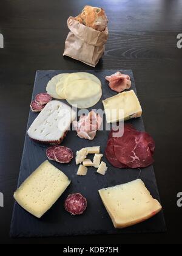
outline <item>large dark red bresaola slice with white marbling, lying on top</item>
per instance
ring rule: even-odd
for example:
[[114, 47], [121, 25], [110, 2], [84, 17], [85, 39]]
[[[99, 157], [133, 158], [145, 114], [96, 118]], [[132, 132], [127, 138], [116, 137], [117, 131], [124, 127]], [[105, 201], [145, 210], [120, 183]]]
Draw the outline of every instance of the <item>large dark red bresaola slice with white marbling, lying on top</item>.
[[153, 163], [155, 143], [146, 132], [138, 132], [124, 125], [124, 135], [113, 138], [113, 147], [118, 160], [129, 168], [144, 168]]

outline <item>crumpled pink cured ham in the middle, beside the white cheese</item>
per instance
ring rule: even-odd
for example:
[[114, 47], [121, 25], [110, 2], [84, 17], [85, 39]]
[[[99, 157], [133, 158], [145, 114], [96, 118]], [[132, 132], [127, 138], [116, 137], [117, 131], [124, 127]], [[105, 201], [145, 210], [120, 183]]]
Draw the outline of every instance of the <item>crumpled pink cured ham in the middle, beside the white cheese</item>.
[[96, 136], [97, 130], [101, 127], [103, 119], [101, 116], [91, 111], [87, 116], [81, 116], [79, 121], [73, 121], [73, 127], [75, 128], [79, 138], [85, 138], [86, 140], [93, 140]]

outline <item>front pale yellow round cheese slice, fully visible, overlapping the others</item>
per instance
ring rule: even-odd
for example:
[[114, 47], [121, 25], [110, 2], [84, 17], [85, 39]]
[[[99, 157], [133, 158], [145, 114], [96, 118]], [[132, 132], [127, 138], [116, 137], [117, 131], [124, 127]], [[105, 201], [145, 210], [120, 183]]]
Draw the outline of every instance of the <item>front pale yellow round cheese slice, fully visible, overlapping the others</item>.
[[98, 103], [102, 96], [102, 88], [88, 79], [76, 79], [64, 86], [67, 102], [77, 108], [89, 108]]

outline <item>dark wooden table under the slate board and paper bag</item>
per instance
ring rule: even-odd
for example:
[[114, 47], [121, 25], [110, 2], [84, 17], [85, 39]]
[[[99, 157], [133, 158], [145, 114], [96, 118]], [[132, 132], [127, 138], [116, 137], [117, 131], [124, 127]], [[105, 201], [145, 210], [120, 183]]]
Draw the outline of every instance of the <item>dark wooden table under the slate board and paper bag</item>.
[[[109, 40], [96, 69], [132, 69], [146, 130], [156, 141], [155, 174], [167, 233], [10, 240], [13, 192], [19, 174], [25, 128], [37, 69], [90, 69], [62, 57], [67, 18], [84, 5], [102, 6]], [[1, 0], [0, 33], [0, 243], [181, 243], [182, 208], [182, 33], [181, 0]]]

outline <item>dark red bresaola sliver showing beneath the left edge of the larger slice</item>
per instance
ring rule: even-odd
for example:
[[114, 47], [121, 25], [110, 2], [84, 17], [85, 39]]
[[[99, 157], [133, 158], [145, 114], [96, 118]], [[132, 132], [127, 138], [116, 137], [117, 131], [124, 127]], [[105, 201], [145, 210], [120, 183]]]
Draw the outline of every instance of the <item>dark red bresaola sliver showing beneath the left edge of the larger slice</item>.
[[113, 148], [113, 138], [110, 138], [109, 141], [107, 141], [107, 147], [106, 147], [106, 158], [116, 168], [127, 168], [126, 165], [121, 163], [118, 158], [115, 155], [114, 148]]

